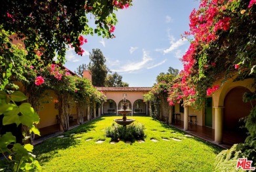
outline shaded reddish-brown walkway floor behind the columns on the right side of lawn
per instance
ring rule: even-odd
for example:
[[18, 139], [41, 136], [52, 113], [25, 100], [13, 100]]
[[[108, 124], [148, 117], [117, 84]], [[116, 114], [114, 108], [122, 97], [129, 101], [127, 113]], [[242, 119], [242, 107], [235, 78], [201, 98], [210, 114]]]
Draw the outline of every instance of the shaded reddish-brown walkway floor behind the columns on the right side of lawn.
[[[171, 124], [171, 126], [184, 130], [184, 122], [179, 122], [178, 124]], [[198, 125], [188, 125], [188, 130], [185, 131], [190, 135], [194, 135], [203, 139], [205, 141], [209, 141], [215, 145], [221, 146], [223, 148], [230, 148], [232, 145], [236, 143], [244, 143], [245, 138], [247, 135], [239, 135], [238, 133], [232, 131], [223, 131], [223, 143], [219, 144], [214, 141], [214, 129], [208, 128], [205, 126], [198, 126]]]

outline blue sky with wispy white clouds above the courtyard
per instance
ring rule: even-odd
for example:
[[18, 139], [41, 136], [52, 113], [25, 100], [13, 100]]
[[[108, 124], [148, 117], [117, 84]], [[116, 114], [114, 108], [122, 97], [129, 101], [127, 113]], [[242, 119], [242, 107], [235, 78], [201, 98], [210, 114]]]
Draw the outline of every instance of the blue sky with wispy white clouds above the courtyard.
[[118, 23], [115, 39], [85, 36], [85, 53], [66, 53], [65, 66], [75, 71], [82, 63], [89, 64], [89, 52], [99, 48], [108, 68], [123, 76], [129, 86], [153, 86], [161, 72], [169, 67], [181, 70], [181, 58], [189, 42], [182, 39], [189, 30], [189, 15], [197, 9], [195, 0], [133, 0], [133, 6], [116, 12]]

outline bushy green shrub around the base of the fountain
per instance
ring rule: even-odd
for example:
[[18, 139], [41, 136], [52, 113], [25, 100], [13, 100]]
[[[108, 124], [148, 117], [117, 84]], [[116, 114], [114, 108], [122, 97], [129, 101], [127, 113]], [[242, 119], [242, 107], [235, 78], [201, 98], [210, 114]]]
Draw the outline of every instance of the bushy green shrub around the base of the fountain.
[[106, 128], [106, 137], [111, 137], [112, 141], [119, 141], [123, 139], [125, 141], [133, 141], [135, 139], [144, 139], [144, 126], [140, 123], [131, 124], [129, 126], [121, 126], [118, 124], [112, 124]]

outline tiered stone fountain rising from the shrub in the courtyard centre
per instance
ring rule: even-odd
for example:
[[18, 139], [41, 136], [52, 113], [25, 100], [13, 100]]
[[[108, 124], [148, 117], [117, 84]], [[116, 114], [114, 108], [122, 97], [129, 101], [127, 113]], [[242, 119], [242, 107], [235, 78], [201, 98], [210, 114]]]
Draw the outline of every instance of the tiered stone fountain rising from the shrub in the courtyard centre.
[[126, 94], [123, 95], [123, 103], [121, 103], [121, 109], [117, 110], [119, 114], [123, 114], [122, 119], [116, 119], [114, 120], [117, 124], [122, 125], [122, 126], [127, 126], [129, 124], [132, 124], [135, 120], [133, 119], [127, 119], [126, 114], [129, 114], [132, 112], [131, 109], [128, 108], [129, 103], [126, 103]]

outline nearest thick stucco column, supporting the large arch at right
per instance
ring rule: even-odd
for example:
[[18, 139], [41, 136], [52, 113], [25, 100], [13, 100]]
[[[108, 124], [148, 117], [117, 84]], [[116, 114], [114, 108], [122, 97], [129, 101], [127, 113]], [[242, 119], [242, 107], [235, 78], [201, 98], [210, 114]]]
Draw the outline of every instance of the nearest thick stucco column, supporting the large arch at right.
[[224, 107], [213, 107], [215, 108], [215, 138], [214, 141], [222, 143], [223, 141], [223, 108]]

